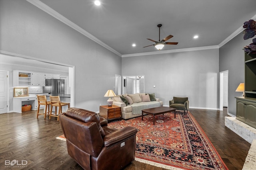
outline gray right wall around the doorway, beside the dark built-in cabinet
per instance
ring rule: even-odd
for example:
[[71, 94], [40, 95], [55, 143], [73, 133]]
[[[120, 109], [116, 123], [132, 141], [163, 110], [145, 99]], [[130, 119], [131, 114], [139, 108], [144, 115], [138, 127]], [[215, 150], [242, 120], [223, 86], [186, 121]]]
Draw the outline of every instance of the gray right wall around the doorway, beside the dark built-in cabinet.
[[228, 113], [236, 115], [236, 96], [242, 93], [235, 92], [238, 85], [244, 82], [244, 50], [245, 45], [252, 43], [252, 38], [244, 40], [240, 33], [231, 41], [220, 47], [220, 72], [228, 70]]

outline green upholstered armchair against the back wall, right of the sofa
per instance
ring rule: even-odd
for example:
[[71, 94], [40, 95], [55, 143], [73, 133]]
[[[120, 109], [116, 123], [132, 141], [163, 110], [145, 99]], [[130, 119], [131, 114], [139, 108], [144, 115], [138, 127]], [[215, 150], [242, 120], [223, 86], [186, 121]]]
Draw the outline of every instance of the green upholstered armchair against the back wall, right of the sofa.
[[169, 106], [172, 108], [176, 108], [177, 110], [187, 110], [188, 112], [189, 101], [188, 98], [179, 98], [173, 97], [172, 100], [169, 101]]

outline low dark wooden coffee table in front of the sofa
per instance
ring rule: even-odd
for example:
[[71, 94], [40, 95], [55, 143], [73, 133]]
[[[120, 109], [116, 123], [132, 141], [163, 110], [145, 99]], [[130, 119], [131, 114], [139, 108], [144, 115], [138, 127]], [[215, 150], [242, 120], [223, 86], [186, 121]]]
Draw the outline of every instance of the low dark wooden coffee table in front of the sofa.
[[143, 120], [143, 114], [146, 113], [148, 115], [152, 115], [153, 116], [153, 125], [155, 124], [155, 115], [161, 115], [164, 113], [169, 113], [174, 111], [174, 118], [176, 118], [176, 109], [172, 108], [172, 107], [164, 107], [164, 106], [160, 106], [160, 107], [154, 107], [154, 108], [150, 108], [150, 109], [144, 109], [142, 110], [142, 120]]

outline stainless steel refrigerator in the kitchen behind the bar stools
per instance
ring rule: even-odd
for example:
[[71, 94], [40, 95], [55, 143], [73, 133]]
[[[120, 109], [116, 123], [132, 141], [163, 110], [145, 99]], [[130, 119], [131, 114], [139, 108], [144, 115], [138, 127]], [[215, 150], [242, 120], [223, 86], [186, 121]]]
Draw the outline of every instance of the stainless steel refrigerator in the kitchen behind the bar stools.
[[65, 94], [65, 80], [46, 79], [46, 86], [51, 86], [51, 94]]

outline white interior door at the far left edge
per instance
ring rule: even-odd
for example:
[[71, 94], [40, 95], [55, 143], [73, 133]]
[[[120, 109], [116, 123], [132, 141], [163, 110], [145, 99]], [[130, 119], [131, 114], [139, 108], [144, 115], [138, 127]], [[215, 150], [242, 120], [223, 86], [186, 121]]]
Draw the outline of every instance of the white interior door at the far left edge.
[[7, 72], [0, 71], [0, 114], [7, 113], [8, 106], [8, 86], [7, 86]]

